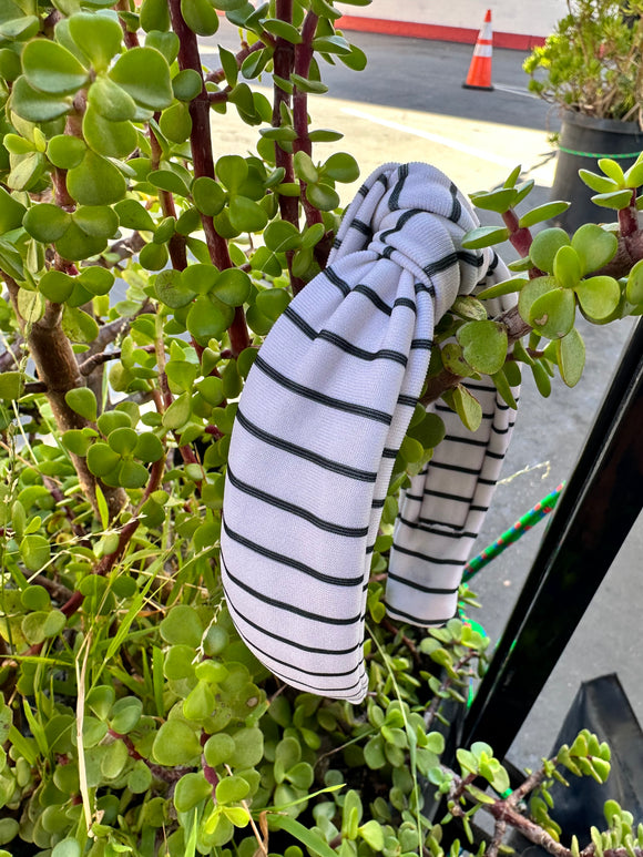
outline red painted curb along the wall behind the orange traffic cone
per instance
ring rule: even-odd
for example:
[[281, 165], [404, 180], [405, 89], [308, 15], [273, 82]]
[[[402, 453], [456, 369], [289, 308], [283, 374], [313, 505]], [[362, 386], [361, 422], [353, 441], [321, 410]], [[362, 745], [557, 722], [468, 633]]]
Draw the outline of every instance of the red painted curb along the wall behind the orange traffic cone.
[[[476, 44], [480, 30], [467, 27], [445, 27], [443, 24], [417, 23], [415, 21], [389, 21], [385, 18], [361, 18], [356, 14], [344, 14], [336, 25], [341, 30], [356, 30], [368, 33], [386, 33], [388, 35], [406, 35], [412, 39], [430, 39], [442, 42], [460, 42]], [[517, 51], [530, 51], [544, 44], [540, 35], [523, 33], [493, 32], [496, 48], [511, 48]]]

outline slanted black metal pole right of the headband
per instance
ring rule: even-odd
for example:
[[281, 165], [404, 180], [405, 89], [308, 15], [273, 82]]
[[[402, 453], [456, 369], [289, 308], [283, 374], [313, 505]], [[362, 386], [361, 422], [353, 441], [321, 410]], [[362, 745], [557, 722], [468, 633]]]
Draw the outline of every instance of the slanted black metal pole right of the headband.
[[643, 508], [643, 319], [463, 726], [502, 758]]

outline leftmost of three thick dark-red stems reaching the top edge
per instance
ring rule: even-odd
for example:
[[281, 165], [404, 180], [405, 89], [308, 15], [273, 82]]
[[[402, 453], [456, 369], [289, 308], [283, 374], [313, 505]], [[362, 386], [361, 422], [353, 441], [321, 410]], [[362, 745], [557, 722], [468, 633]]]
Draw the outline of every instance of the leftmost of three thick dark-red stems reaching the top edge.
[[[206, 176], [214, 178], [214, 159], [212, 154], [212, 132], [210, 127], [210, 99], [205, 89], [201, 57], [196, 35], [185, 23], [181, 13], [181, 0], [169, 0], [172, 28], [178, 37], [178, 68], [193, 69], [201, 78], [202, 86], [198, 95], [190, 102], [190, 118], [192, 119], [192, 132], [190, 143], [192, 147], [192, 161], [196, 178]], [[227, 242], [216, 231], [214, 221], [210, 215], [201, 214], [201, 223], [205, 233], [205, 242], [213, 265], [220, 271], [234, 267], [229, 257]], [[234, 320], [228, 328], [229, 344], [235, 357], [251, 345], [251, 338], [246, 325], [243, 307], [235, 309]]]

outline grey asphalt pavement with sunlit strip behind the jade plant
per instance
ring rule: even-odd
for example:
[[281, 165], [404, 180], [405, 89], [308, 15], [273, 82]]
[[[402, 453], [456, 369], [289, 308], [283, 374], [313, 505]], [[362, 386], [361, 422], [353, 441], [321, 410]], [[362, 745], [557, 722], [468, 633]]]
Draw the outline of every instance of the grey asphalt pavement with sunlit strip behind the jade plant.
[[[363, 176], [387, 161], [428, 161], [467, 193], [498, 186], [520, 163], [523, 177], [535, 181], [529, 207], [549, 198], [555, 163], [550, 134], [558, 131], [560, 122], [550, 105], [528, 92], [522, 72], [525, 54], [494, 50], [494, 90], [466, 90], [461, 84], [471, 60], [470, 45], [369, 33], [348, 35], [366, 52], [368, 67], [361, 73], [340, 63], [323, 67], [329, 92], [310, 98], [314, 126], [339, 130], [345, 137], [340, 143], [318, 146], [318, 157], [341, 147], [357, 157]], [[206, 50], [226, 44], [228, 34], [220, 31], [207, 40], [211, 47]], [[232, 44], [231, 40], [227, 45]], [[234, 121], [222, 125], [217, 124], [215, 134], [217, 156], [238, 151], [246, 140], [251, 146], [254, 131]], [[345, 202], [354, 190], [345, 188]], [[487, 215], [481, 220], [492, 222]], [[514, 257], [510, 247], [504, 247], [502, 255], [507, 261]], [[558, 380], [550, 398], [542, 399], [531, 379], [525, 380], [512, 445], [477, 543], [479, 549], [568, 479], [631, 328], [630, 320], [583, 328], [588, 361], [584, 377], [573, 389]], [[539, 524], [480, 572], [472, 584], [482, 602], [476, 619], [493, 643], [502, 634], [544, 527]], [[618, 672], [643, 721], [637, 640], [642, 555], [643, 517], [516, 739], [509, 753], [514, 764], [538, 766], [540, 757], [551, 751], [581, 681]]]

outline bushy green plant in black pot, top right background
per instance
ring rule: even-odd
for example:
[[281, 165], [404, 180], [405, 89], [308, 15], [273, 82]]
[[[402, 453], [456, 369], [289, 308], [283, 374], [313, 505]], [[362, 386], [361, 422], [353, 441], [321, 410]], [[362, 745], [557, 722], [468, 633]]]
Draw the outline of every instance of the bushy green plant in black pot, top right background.
[[530, 90], [562, 113], [552, 197], [574, 201], [558, 220], [568, 229], [605, 220], [579, 171], [595, 170], [602, 157], [627, 169], [643, 149], [642, 11], [640, 0], [568, 0], [568, 14], [524, 62]]

